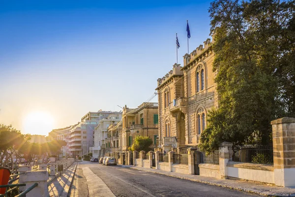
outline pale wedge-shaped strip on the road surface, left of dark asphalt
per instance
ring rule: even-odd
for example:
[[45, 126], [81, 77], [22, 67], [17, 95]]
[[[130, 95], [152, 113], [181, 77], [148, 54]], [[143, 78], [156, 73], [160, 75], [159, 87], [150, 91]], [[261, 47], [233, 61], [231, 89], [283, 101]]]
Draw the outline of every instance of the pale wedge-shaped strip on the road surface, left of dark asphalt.
[[89, 197], [116, 197], [110, 188], [89, 167], [83, 167], [82, 170], [87, 180]]

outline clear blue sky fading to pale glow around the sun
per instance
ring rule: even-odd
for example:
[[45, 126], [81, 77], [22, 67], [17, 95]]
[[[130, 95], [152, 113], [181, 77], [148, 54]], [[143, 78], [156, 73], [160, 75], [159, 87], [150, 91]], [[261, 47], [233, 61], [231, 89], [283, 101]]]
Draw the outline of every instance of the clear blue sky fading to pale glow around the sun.
[[[48, 135], [135, 108], [210, 38], [208, 0], [0, 0], [0, 124]], [[151, 101], [157, 102], [157, 97]]]

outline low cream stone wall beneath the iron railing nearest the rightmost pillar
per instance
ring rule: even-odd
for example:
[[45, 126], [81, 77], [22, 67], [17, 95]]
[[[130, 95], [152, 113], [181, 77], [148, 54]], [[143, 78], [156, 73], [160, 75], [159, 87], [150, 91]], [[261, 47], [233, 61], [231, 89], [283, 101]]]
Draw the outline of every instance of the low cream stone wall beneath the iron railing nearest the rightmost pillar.
[[228, 162], [228, 177], [274, 184], [272, 164]]

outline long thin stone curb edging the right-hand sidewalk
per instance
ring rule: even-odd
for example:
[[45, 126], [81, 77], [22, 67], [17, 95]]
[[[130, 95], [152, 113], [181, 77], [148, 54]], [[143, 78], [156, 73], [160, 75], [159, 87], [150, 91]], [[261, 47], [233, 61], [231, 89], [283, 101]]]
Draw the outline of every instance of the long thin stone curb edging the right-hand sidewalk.
[[138, 169], [138, 168], [134, 168], [134, 167], [131, 167], [128, 165], [121, 165], [121, 166], [136, 169], [136, 170], [141, 170], [141, 171], [152, 172], [155, 174], [161, 174], [161, 175], [165, 175], [165, 176], [175, 177], [175, 178], [179, 178], [179, 179], [185, 179], [185, 180], [203, 183], [203, 184], [207, 184], [207, 185], [213, 185], [213, 186], [228, 188], [228, 189], [232, 189], [232, 190], [247, 192], [247, 193], [251, 193], [251, 194], [258, 194], [258, 195], [265, 196], [265, 197], [295, 197], [295, 194], [266, 194], [266, 191], [260, 192], [257, 190], [251, 190], [251, 189], [247, 189], [247, 188], [231, 187], [231, 186], [228, 186], [225, 184], [211, 183], [208, 181], [196, 180], [196, 179], [191, 179], [191, 178], [187, 178], [187, 177], [183, 177], [183, 176], [177, 176], [177, 175], [173, 175], [173, 174], [165, 174], [162, 172], [155, 172], [155, 171], [150, 171], [150, 170], [146, 170], [146, 169]]

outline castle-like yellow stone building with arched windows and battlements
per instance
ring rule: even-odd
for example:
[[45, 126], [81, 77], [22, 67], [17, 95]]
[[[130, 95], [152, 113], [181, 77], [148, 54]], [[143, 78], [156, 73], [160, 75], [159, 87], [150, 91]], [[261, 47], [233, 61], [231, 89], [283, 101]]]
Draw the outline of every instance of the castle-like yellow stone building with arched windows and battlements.
[[198, 145], [208, 110], [218, 106], [210, 39], [183, 59], [183, 66], [175, 64], [157, 80], [159, 144], [166, 152]]

